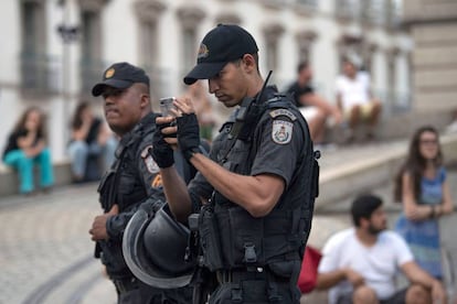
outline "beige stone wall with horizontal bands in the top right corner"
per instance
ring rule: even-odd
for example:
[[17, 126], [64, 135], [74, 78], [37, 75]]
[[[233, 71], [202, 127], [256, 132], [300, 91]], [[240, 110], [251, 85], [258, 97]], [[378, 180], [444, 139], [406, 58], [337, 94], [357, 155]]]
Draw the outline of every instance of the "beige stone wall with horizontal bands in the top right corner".
[[405, 21], [415, 41], [415, 109], [457, 110], [457, 2], [406, 0]]

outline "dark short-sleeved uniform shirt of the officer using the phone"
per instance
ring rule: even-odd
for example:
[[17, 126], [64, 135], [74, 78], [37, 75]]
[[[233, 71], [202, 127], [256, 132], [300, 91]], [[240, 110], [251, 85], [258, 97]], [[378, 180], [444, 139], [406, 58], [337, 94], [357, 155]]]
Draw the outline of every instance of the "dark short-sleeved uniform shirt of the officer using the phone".
[[[290, 108], [294, 108], [291, 102], [289, 105]], [[306, 153], [307, 137], [304, 127], [300, 126], [305, 122], [299, 121], [298, 110], [266, 110], [255, 127], [249, 156], [242, 159], [238, 155], [246, 155], [249, 143], [237, 141], [226, 155], [232, 145], [232, 140], [228, 140], [228, 132], [235, 116], [236, 112], [221, 128], [221, 132], [212, 143], [210, 158], [234, 173], [243, 175], [275, 174], [280, 176], [285, 181], [286, 192], [288, 192], [291, 184], [299, 178], [296, 175], [302, 174], [302, 172], [298, 173], [297, 169], [300, 159]], [[225, 155], [227, 161], [222, 160]], [[301, 177], [305, 178], [305, 176]], [[189, 191], [193, 197], [193, 209], [198, 211], [200, 199], [196, 198], [210, 198], [213, 187], [202, 174], [198, 173], [190, 183]], [[293, 188], [291, 191], [297, 194], [306, 189]]]

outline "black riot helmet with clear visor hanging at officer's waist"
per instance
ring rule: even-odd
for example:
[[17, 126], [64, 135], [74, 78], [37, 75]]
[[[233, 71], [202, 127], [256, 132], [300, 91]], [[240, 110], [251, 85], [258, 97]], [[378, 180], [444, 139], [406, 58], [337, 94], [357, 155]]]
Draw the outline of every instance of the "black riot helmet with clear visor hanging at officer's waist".
[[136, 278], [155, 287], [176, 289], [190, 283], [194, 263], [185, 261], [190, 230], [176, 221], [168, 205], [157, 213], [138, 209], [123, 238], [126, 263]]

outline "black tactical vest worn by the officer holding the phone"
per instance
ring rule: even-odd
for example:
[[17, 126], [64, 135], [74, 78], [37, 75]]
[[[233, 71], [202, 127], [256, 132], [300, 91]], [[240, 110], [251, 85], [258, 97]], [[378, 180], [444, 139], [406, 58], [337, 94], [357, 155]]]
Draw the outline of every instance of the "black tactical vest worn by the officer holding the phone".
[[313, 156], [308, 126], [290, 102], [290, 97], [275, 94], [272, 89], [267, 90], [266, 97], [267, 101], [256, 105], [254, 110], [249, 109], [254, 111], [254, 119], [246, 121], [237, 138], [231, 138], [230, 134], [234, 121], [228, 121], [222, 128], [220, 135], [224, 146], [219, 153], [220, 164], [231, 172], [249, 174], [257, 149], [255, 126], [274, 109], [287, 109], [297, 117], [306, 137], [301, 155], [298, 158], [300, 162], [279, 202], [265, 217], [255, 218], [222, 194], [214, 192], [210, 208], [220, 235], [222, 264], [217, 265], [217, 262], [211, 262], [211, 257], [204, 257], [206, 261], [210, 260], [210, 270], [268, 265], [275, 272], [290, 276], [293, 270], [287, 269], [290, 268], [287, 261], [301, 259], [308, 239], [318, 185], [318, 164]]

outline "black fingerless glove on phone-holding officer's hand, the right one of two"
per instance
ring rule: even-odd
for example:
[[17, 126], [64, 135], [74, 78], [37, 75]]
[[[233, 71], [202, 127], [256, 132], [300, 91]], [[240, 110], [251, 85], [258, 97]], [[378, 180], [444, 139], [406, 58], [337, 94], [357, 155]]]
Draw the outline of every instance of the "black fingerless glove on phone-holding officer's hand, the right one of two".
[[193, 153], [200, 152], [200, 129], [199, 121], [194, 113], [182, 115], [177, 118], [178, 144], [182, 155], [189, 161]]

